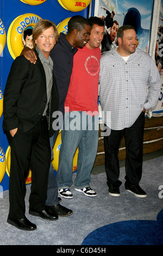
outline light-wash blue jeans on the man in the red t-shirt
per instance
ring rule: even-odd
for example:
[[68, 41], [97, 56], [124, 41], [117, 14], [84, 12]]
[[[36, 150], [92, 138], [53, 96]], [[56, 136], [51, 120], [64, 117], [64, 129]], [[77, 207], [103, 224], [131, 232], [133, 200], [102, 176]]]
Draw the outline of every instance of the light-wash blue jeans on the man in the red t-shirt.
[[[77, 117], [76, 122], [73, 115]], [[98, 147], [98, 115], [91, 117], [82, 111], [65, 113], [61, 140], [56, 176], [58, 188], [68, 188], [73, 183], [73, 157], [77, 148], [79, 151], [74, 186], [76, 188], [89, 186]]]

